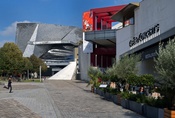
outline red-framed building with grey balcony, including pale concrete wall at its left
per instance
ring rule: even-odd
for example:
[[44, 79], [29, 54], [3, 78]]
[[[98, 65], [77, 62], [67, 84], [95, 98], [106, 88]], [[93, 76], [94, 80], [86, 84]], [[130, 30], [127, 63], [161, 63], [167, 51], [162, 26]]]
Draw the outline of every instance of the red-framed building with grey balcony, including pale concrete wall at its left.
[[[103, 70], [115, 62], [117, 29], [112, 29], [115, 20], [111, 17], [125, 6], [94, 8], [83, 13], [83, 45], [79, 46], [81, 79], [88, 81], [87, 70], [90, 66]], [[117, 27], [121, 28], [121, 23]]]

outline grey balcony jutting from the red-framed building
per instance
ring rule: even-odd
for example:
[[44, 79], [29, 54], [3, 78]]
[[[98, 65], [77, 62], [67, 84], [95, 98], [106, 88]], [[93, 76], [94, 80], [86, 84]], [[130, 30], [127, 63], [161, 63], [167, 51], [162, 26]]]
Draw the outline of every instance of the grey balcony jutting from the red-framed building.
[[103, 46], [115, 46], [116, 29], [85, 32], [85, 40]]

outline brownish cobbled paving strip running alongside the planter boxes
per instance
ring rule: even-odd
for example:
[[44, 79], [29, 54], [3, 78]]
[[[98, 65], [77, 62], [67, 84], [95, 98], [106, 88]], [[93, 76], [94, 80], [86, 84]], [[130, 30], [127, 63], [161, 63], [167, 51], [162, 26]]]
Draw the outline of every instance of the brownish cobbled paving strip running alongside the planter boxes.
[[45, 85], [64, 118], [143, 118], [91, 93], [85, 82], [47, 81]]

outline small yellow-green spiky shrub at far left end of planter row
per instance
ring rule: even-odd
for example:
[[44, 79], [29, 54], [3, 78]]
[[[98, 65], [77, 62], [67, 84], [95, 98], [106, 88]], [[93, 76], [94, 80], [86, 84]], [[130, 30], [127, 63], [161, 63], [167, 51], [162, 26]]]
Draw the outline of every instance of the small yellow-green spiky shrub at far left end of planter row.
[[99, 77], [101, 77], [102, 72], [98, 68], [90, 67], [88, 69], [88, 76], [90, 78], [87, 86], [92, 85], [98, 87], [100, 85]]

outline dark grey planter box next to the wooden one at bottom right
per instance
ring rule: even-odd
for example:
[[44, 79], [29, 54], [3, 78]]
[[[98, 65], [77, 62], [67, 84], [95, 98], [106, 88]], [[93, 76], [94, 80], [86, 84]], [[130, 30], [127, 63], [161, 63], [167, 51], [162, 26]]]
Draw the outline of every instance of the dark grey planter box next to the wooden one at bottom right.
[[143, 114], [148, 118], [163, 118], [164, 110], [149, 105], [144, 105]]

